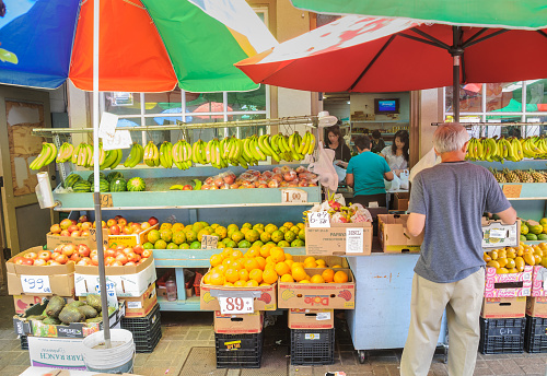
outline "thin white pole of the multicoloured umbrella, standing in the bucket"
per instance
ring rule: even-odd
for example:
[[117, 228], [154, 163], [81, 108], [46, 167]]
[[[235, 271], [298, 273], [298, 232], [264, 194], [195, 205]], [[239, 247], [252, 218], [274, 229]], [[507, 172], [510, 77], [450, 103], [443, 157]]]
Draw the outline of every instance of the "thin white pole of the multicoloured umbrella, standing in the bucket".
[[101, 308], [103, 310], [103, 330], [106, 349], [110, 348], [110, 324], [108, 319], [108, 298], [106, 292], [106, 277], [104, 265], [103, 246], [103, 215], [101, 213], [101, 189], [100, 189], [100, 150], [98, 150], [98, 14], [101, 0], [93, 1], [93, 174], [95, 203], [95, 230], [98, 258], [98, 285], [101, 289]]

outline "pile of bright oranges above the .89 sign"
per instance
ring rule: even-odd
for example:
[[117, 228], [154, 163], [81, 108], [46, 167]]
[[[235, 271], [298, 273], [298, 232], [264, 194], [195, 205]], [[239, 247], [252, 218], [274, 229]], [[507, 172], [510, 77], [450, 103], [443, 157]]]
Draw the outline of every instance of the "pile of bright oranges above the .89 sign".
[[[307, 257], [304, 262], [294, 262], [290, 254], [283, 248], [271, 244], [261, 247], [254, 246], [245, 254], [241, 250], [226, 247], [221, 254], [210, 258], [211, 270], [203, 275], [205, 284], [217, 286], [256, 287], [270, 285], [277, 282], [300, 283], [345, 283], [348, 274], [333, 270], [341, 268], [334, 266], [326, 269], [324, 260]], [[309, 275], [304, 268], [325, 268], [322, 273]]]

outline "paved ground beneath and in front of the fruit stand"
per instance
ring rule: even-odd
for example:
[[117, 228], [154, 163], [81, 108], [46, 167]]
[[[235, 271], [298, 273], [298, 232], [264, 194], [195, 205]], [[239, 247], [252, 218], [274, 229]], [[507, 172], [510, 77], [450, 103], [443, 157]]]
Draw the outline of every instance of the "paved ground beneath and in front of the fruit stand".
[[[28, 353], [20, 348], [13, 332], [13, 298], [0, 296], [0, 375], [19, 375], [28, 365]], [[328, 366], [290, 365], [289, 338], [286, 321], [280, 317], [265, 329], [261, 368], [217, 369], [212, 313], [162, 313], [163, 337], [153, 353], [137, 354], [138, 375], [291, 375], [324, 376], [342, 371], [347, 375], [399, 375], [401, 350], [371, 351], [365, 364], [360, 364], [344, 319], [337, 319], [335, 364]], [[546, 374], [547, 354], [478, 354], [475, 375]], [[442, 355], [435, 355], [429, 375], [447, 375]]]

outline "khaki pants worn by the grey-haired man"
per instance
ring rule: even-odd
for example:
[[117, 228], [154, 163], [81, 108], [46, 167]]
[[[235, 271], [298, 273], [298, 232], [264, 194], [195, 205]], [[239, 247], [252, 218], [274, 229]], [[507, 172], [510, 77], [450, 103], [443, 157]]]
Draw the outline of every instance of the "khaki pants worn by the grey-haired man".
[[445, 308], [450, 334], [449, 375], [473, 375], [484, 292], [484, 268], [453, 283], [435, 283], [414, 275], [410, 327], [400, 360], [401, 376], [428, 374]]

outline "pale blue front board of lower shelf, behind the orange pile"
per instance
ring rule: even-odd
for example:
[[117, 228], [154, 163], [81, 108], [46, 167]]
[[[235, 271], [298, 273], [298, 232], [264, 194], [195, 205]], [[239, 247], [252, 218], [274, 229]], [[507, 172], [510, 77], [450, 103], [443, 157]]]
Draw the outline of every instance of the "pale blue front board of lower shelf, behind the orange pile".
[[[293, 256], [305, 255], [305, 247], [284, 250]], [[221, 251], [222, 249], [154, 249], [154, 262], [156, 268], [209, 268], [211, 256]]]

